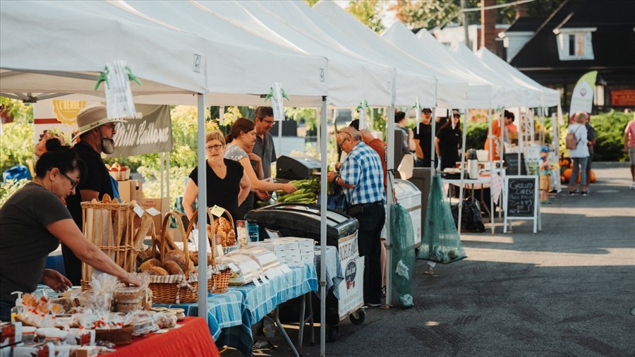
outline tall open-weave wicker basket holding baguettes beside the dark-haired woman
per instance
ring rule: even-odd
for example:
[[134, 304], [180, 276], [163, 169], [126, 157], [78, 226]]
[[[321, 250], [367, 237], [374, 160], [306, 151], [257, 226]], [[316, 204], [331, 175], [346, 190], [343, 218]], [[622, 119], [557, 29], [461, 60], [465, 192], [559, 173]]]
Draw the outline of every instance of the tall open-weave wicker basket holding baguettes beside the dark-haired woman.
[[[101, 202], [82, 202], [84, 236], [90, 243], [106, 253], [126, 272], [135, 271], [134, 205], [131, 202], [111, 200], [104, 195]], [[82, 289], [85, 290], [92, 279], [93, 268], [82, 263]]]

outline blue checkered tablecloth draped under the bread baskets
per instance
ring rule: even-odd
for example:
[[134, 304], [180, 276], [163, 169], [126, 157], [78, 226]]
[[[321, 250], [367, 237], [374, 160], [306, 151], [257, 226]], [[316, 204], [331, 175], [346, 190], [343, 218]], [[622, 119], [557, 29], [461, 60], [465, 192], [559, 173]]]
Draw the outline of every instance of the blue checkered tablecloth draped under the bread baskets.
[[[292, 298], [317, 291], [317, 274], [313, 264], [290, 267], [291, 271], [269, 279], [269, 284], [230, 286], [224, 294], [208, 294], [207, 325], [217, 346], [231, 346], [244, 356], [251, 356], [251, 326]], [[183, 308], [186, 315], [198, 315], [198, 304], [166, 305]]]

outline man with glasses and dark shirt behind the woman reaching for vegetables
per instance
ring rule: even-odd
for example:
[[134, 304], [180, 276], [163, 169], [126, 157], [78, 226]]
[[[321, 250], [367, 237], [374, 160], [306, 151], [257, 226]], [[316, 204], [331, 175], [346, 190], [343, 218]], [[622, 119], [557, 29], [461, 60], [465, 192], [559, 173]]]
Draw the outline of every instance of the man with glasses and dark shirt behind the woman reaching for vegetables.
[[[262, 159], [262, 179], [271, 177], [271, 163], [276, 162], [276, 149], [273, 144], [273, 136], [269, 133], [275, 121], [272, 107], [258, 107], [254, 112], [256, 140], [253, 153]], [[258, 172], [258, 171], [256, 171]], [[269, 193], [266, 191], [253, 191], [259, 200], [267, 200]]]

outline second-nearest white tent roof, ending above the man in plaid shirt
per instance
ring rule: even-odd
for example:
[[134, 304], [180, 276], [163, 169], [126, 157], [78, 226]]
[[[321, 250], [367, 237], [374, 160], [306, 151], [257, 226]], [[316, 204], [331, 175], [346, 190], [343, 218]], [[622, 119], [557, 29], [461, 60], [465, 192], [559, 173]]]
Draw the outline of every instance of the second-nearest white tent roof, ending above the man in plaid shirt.
[[393, 68], [370, 63], [331, 37], [317, 24], [318, 16], [297, 1], [200, 1], [207, 11], [277, 44], [289, 44], [329, 60], [329, 105], [356, 107], [392, 102]]

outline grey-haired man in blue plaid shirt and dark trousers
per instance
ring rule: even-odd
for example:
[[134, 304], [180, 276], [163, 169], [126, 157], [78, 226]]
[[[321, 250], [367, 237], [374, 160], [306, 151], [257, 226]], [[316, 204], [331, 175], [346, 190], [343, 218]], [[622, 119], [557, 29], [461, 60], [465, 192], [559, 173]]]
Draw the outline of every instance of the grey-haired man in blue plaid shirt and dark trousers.
[[386, 217], [382, 162], [355, 128], [342, 128], [336, 140], [346, 152], [346, 159], [339, 174], [329, 171], [327, 178], [344, 188], [348, 213], [359, 222], [357, 241], [365, 265], [364, 301], [377, 307], [382, 298], [381, 232]]

